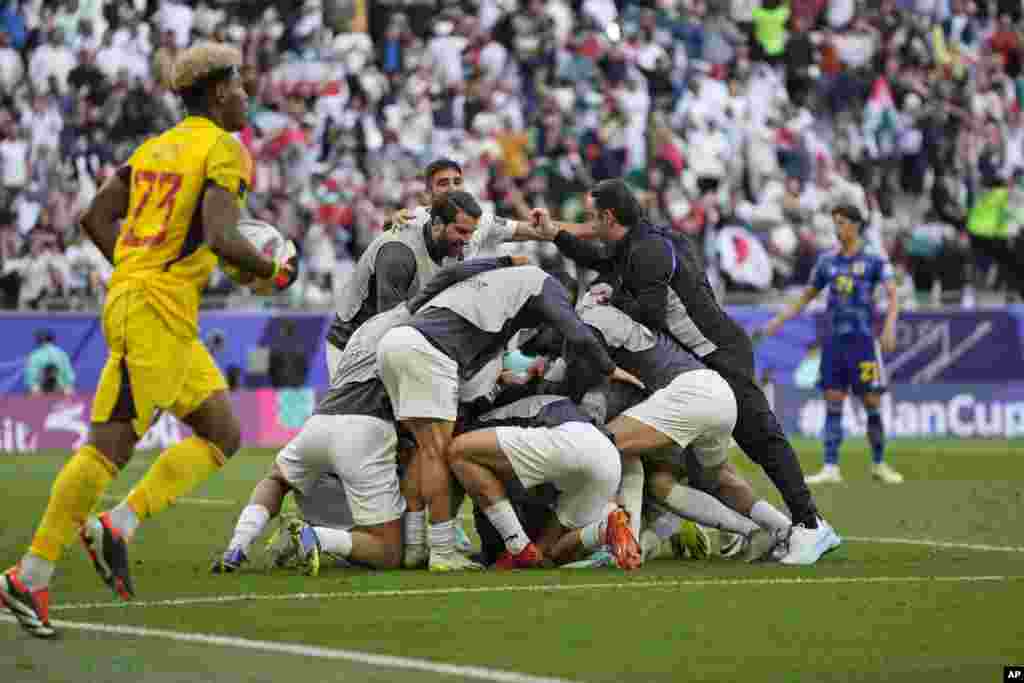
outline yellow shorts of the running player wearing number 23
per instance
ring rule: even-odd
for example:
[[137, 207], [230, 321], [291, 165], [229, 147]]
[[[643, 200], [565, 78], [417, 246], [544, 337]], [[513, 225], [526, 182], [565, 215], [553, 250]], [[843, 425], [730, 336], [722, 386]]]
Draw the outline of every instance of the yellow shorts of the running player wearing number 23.
[[103, 336], [110, 355], [92, 422], [131, 422], [141, 437], [160, 411], [184, 418], [227, 389], [206, 346], [174, 335], [142, 291], [123, 291], [106, 302]]

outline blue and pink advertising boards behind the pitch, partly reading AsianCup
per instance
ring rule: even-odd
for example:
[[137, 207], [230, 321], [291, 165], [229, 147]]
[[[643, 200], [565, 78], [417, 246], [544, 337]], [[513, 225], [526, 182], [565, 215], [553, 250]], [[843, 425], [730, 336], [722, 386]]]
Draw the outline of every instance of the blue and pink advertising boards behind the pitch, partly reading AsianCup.
[[[748, 329], [764, 325], [774, 311], [734, 307], [730, 313]], [[279, 343], [285, 321], [294, 325], [291, 342], [306, 355], [306, 388], [273, 390], [265, 369], [253, 369], [253, 355]], [[249, 446], [278, 446], [290, 438], [327, 385], [324, 336], [330, 324], [324, 313], [204, 312], [201, 336], [217, 336], [214, 353], [227, 373], [238, 369], [239, 391], [232, 399]], [[0, 317], [0, 450], [75, 447], [84, 438], [88, 404], [105, 359], [99, 319], [94, 314], [8, 314]], [[820, 313], [798, 317], [778, 336], [756, 347], [759, 375], [787, 432], [816, 436], [824, 407], [813, 389]], [[36, 330], [52, 330], [72, 357], [78, 375], [72, 398], [29, 397], [22, 378]], [[215, 335], [214, 333], [220, 333]], [[258, 364], [257, 364], [258, 365]], [[884, 419], [894, 437], [993, 437], [1024, 435], [1024, 306], [998, 310], [908, 312], [900, 317], [897, 349], [886, 356], [891, 391], [883, 403]], [[851, 404], [845, 416], [849, 433], [863, 431], [863, 415]], [[164, 447], [187, 429], [164, 417], [140, 447]]]

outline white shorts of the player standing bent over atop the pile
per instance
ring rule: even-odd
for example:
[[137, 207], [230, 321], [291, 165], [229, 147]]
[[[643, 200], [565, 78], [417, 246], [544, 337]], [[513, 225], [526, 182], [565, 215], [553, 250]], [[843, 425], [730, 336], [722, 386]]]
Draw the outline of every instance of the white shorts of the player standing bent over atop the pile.
[[389, 331], [377, 346], [377, 372], [398, 420], [455, 422], [459, 415], [459, 365], [416, 328]]

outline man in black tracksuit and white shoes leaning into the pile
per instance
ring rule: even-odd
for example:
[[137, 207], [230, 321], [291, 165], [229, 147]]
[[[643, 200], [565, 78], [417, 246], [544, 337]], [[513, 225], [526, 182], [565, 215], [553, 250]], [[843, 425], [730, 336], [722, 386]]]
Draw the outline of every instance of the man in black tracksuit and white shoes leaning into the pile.
[[[565, 256], [615, 283], [611, 302], [637, 323], [669, 332], [735, 395], [733, 438], [764, 468], [793, 516], [788, 561], [813, 564], [831, 545], [835, 531], [818, 524], [817, 508], [793, 446], [754, 374], [750, 337], [715, 299], [703, 262], [685, 236], [651, 224], [625, 181], [602, 180], [586, 197], [589, 244], [568, 229], [544, 231]], [[540, 226], [543, 228], [544, 226]]]

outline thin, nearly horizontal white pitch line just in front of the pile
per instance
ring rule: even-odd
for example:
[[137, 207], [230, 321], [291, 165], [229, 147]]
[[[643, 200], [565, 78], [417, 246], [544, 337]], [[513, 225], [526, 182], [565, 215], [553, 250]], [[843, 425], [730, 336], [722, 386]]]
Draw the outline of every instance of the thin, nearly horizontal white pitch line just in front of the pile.
[[408, 598], [438, 595], [465, 595], [475, 593], [560, 593], [565, 591], [595, 591], [638, 588], [695, 588], [717, 586], [796, 586], [837, 584], [911, 584], [939, 583], [964, 584], [979, 582], [1008, 582], [1024, 577], [822, 577], [818, 579], [693, 579], [687, 581], [634, 581], [600, 584], [524, 584], [520, 586], [453, 586], [450, 588], [414, 588], [395, 591], [334, 591], [329, 593], [239, 593], [236, 595], [207, 595], [195, 598], [168, 600], [132, 600], [130, 602], [73, 602], [51, 605], [50, 611], [71, 609], [98, 609], [100, 607], [180, 607], [184, 605], [224, 604], [264, 600], [330, 600], [335, 598]]

